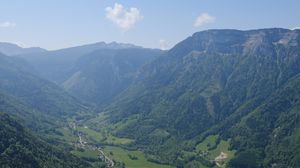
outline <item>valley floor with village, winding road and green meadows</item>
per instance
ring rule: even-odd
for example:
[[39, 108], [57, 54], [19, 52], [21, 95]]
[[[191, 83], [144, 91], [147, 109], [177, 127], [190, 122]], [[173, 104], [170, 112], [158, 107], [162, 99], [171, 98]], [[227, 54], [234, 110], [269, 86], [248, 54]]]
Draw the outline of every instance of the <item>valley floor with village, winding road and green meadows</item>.
[[122, 145], [133, 141], [131, 139], [118, 138], [106, 131], [98, 132], [75, 121], [70, 121], [67, 126], [58, 128], [57, 131], [60, 133], [54, 135], [56, 140], [71, 144], [74, 147], [71, 153], [94, 165], [104, 161], [107, 167], [171, 168], [148, 161], [142, 151], [123, 148]]

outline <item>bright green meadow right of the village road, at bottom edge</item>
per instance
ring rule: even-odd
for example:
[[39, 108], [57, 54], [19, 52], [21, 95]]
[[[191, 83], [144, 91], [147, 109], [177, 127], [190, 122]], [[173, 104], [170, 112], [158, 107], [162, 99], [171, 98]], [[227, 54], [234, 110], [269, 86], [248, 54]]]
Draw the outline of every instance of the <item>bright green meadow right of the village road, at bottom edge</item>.
[[[147, 161], [145, 154], [141, 151], [129, 151], [120, 147], [106, 146], [104, 152], [109, 158], [125, 163], [128, 168], [170, 168], [167, 165]], [[136, 159], [133, 160], [130, 156], [136, 157]]]

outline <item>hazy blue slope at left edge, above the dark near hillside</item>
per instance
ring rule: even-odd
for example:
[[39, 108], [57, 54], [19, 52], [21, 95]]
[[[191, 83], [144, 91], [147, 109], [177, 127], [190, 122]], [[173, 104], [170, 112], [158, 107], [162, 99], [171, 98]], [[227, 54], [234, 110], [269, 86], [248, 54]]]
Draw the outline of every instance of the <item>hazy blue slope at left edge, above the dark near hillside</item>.
[[20, 58], [0, 54], [0, 92], [16, 98], [44, 116], [63, 116], [87, 111], [59, 86], [31, 73], [32, 68]]

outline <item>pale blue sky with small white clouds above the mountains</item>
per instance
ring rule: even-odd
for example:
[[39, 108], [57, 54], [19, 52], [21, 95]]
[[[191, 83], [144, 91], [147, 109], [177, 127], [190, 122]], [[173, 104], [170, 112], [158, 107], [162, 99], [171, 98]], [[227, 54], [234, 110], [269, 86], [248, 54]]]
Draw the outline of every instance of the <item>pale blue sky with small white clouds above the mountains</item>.
[[0, 0], [0, 41], [169, 49], [207, 29], [300, 28], [300, 0]]

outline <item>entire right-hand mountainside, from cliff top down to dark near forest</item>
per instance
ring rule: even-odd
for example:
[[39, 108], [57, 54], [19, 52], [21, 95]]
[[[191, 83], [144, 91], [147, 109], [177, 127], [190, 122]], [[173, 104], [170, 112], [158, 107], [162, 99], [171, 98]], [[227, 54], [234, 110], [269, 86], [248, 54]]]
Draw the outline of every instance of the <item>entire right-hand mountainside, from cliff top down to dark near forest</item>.
[[195, 33], [144, 66], [102, 110], [105, 121], [91, 122], [122, 125], [115, 134], [134, 139], [130, 147], [177, 166], [211, 162], [199, 155], [182, 158], [217, 135], [236, 151], [231, 167], [299, 167], [299, 33]]

